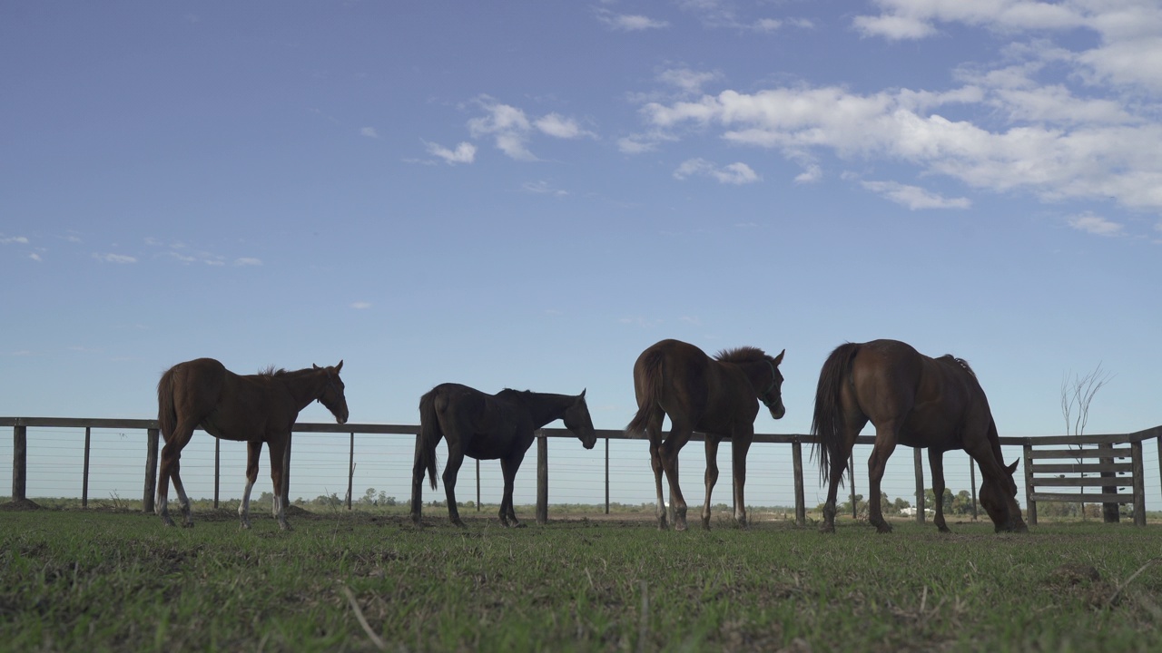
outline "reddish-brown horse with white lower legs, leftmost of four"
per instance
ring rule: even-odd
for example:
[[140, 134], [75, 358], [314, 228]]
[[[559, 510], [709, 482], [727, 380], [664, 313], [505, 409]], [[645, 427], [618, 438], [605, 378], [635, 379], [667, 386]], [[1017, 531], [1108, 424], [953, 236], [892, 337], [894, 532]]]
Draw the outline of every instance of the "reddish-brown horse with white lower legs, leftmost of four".
[[267, 371], [241, 376], [213, 358], [199, 358], [171, 367], [157, 385], [157, 419], [165, 447], [162, 449], [160, 473], [157, 481], [157, 514], [167, 526], [170, 518], [170, 480], [178, 490], [186, 526], [193, 526], [189, 500], [181, 486], [181, 450], [189, 443], [194, 429], [246, 443], [246, 489], [243, 491], [238, 516], [242, 526], [250, 528], [250, 489], [258, 478], [258, 457], [263, 443], [270, 445], [271, 480], [274, 482], [274, 516], [280, 529], [289, 529], [286, 519], [286, 497], [282, 496], [284, 455], [289, 457], [290, 428], [299, 412], [318, 400], [343, 424], [347, 421], [347, 400], [343, 396], [340, 360], [335, 367], [318, 367], [287, 372]]

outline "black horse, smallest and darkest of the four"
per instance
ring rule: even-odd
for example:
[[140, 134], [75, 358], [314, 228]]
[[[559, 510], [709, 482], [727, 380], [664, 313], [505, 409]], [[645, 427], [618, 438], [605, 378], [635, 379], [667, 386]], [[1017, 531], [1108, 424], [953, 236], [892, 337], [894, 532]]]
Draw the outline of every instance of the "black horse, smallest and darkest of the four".
[[419, 435], [411, 468], [411, 521], [419, 523], [424, 471], [436, 489], [436, 445], [447, 440], [447, 464], [444, 465], [444, 493], [447, 516], [462, 526], [456, 507], [456, 475], [464, 457], [501, 461], [504, 497], [500, 517], [505, 526], [519, 526], [512, 510], [512, 481], [524, 454], [532, 445], [537, 429], [561, 419], [586, 449], [597, 443], [597, 433], [580, 395], [554, 395], [529, 390], [501, 390], [495, 395], [461, 386], [442, 383], [419, 399]]

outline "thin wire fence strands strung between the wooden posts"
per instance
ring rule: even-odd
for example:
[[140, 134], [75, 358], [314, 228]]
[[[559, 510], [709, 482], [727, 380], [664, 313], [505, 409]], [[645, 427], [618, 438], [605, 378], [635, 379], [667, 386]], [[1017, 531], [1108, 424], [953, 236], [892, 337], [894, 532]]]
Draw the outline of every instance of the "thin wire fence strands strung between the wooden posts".
[[[146, 465], [146, 431], [143, 429], [91, 428], [87, 500], [89, 502], [122, 502], [143, 496]], [[84, 495], [85, 468], [84, 428], [28, 426], [27, 428], [27, 490], [30, 497], [81, 498]], [[415, 437], [394, 433], [317, 433], [295, 432], [292, 466], [292, 502], [311, 502], [318, 497], [347, 496], [388, 498], [406, 503], [411, 494], [411, 464]], [[218, 498], [241, 498], [245, 485], [245, 443], [221, 440], [198, 431], [182, 451], [181, 476], [186, 491], [194, 500], [215, 498], [215, 444], [221, 446]], [[1153, 443], [1152, 443], [1153, 444]], [[0, 460], [13, 460], [13, 439], [0, 437]], [[608, 496], [607, 451], [608, 447]], [[531, 505], [537, 500], [536, 447], [531, 447], [516, 478], [514, 502]], [[809, 457], [810, 447], [804, 447], [804, 503], [813, 509], [826, 500], [826, 488], [820, 486], [818, 467]], [[1005, 461], [1020, 460], [1021, 447], [1002, 447]], [[870, 445], [856, 445], [853, 453], [855, 493], [868, 497], [867, 459]], [[437, 457], [446, 460], [446, 447], [440, 443]], [[923, 458], [924, 487], [931, 487], [931, 469], [927, 457]], [[353, 469], [351, 468], [353, 462]], [[1143, 468], [1147, 509], [1157, 510], [1162, 505], [1162, 480], [1160, 480], [1159, 449], [1143, 447]], [[731, 444], [724, 442], [718, 451], [719, 478], [711, 496], [716, 507], [732, 504]], [[953, 495], [960, 490], [971, 490], [971, 461], [962, 451], [945, 454], [945, 480]], [[259, 480], [254, 497], [271, 490], [270, 458], [266, 451], [259, 462]], [[500, 503], [503, 480], [500, 462], [466, 459], [460, 468], [456, 497], [460, 503]], [[350, 471], [350, 478], [349, 478]], [[680, 483], [691, 509], [705, 498], [703, 475], [705, 454], [701, 442], [690, 442], [681, 454]], [[1018, 468], [1014, 478], [1021, 478]], [[977, 487], [981, 474], [975, 473]], [[845, 476], [846, 479], [846, 476]], [[439, 479], [437, 479], [439, 480]], [[12, 487], [13, 469], [0, 469], [0, 487]], [[478, 496], [479, 483], [479, 496]], [[1018, 483], [1020, 485], [1020, 483]], [[668, 500], [669, 489], [665, 486]], [[897, 447], [889, 459], [883, 478], [882, 491], [889, 500], [903, 498], [916, 505], [916, 474], [913, 455], [909, 447]], [[747, 455], [746, 503], [749, 507], [783, 508], [794, 510], [795, 478], [791, 447], [786, 444], [755, 443]], [[840, 502], [847, 501], [851, 485], [845, 483]], [[432, 490], [424, 481], [424, 502], [443, 502], [445, 490], [442, 482]], [[586, 451], [579, 440], [571, 437], [548, 438], [548, 501], [550, 504], [602, 505], [607, 501], [623, 505], [653, 505], [655, 501], [653, 472], [650, 467], [648, 443], [644, 439], [598, 439], [597, 445]], [[1018, 494], [1024, 505], [1024, 496]]]

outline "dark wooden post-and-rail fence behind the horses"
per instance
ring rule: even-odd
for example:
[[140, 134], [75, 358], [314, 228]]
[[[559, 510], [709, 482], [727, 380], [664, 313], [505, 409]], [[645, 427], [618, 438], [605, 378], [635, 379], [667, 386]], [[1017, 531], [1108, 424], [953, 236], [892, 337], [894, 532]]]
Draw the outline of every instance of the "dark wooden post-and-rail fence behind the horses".
[[[157, 468], [159, 451], [159, 430], [156, 419], [100, 419], [100, 418], [65, 418], [65, 417], [0, 417], [0, 428], [13, 428], [13, 474], [12, 474], [12, 498], [13, 501], [27, 500], [28, 479], [28, 428], [66, 428], [85, 429], [85, 458], [81, 469], [81, 505], [87, 507], [88, 502], [88, 467], [89, 467], [89, 435], [92, 429], [124, 429], [143, 431], [145, 433], [146, 462], [144, 487], [142, 493], [142, 509], [145, 512], [153, 511], [155, 491], [157, 488]], [[363, 435], [397, 435], [415, 437], [418, 433], [418, 425], [397, 424], [323, 424], [323, 423], [300, 423], [295, 424], [295, 432], [310, 433], [347, 433], [350, 435], [350, 462], [347, 468], [347, 508], [351, 507], [351, 485], [354, 474], [354, 438], [356, 433]], [[565, 429], [541, 429], [537, 432], [537, 522], [548, 521], [548, 440], [550, 438], [573, 438], [573, 433]], [[609, 511], [609, 440], [630, 439], [624, 431], [598, 429], [597, 438], [605, 442], [605, 511]], [[704, 437], [695, 433], [691, 442], [702, 442]], [[1003, 446], [1023, 447], [1023, 464], [1025, 468], [1025, 498], [1028, 512], [1030, 525], [1037, 524], [1037, 503], [1046, 501], [1061, 502], [1089, 502], [1103, 503], [1117, 507], [1119, 503], [1132, 503], [1134, 507], [1134, 522], [1139, 525], [1146, 523], [1146, 491], [1145, 491], [1145, 465], [1142, 461], [1142, 443], [1148, 439], [1157, 440], [1159, 460], [1162, 464], [1162, 426], [1155, 426], [1145, 431], [1124, 435], [1106, 436], [1047, 436], [1047, 437], [1002, 437]], [[292, 438], [293, 440], [293, 438]], [[795, 519], [798, 524], [805, 524], [806, 505], [804, 500], [803, 479], [803, 445], [815, 444], [815, 436], [805, 435], [772, 435], [755, 433], [755, 445], [781, 445], [791, 447], [791, 460], [794, 467], [795, 485]], [[874, 444], [873, 436], [860, 436], [856, 439], [859, 445]], [[1084, 445], [1097, 449], [1082, 449]], [[1128, 445], [1128, 447], [1116, 449], [1117, 445]], [[643, 440], [643, 446], [645, 442]], [[1076, 447], [1076, 449], [1064, 449]], [[1049, 449], [1055, 447], [1055, 449]], [[289, 445], [287, 447], [287, 459], [289, 461]], [[924, 467], [921, 461], [921, 450], [912, 452], [916, 474], [916, 519], [925, 521], [925, 483]], [[214, 469], [214, 503], [217, 505], [220, 486], [218, 450], [215, 449]], [[1054, 465], [1043, 464], [1047, 459], [1078, 460], [1077, 464]], [[1098, 462], [1083, 462], [1088, 458], [1097, 458]], [[1119, 458], [1129, 458], [1131, 461], [1117, 462]], [[285, 494], [289, 496], [290, 467], [285, 462]], [[854, 457], [848, 465], [851, 474], [849, 496], [855, 497]], [[1085, 474], [1098, 474], [1086, 478]], [[1069, 476], [1067, 476], [1069, 474]], [[1125, 474], [1125, 475], [1120, 475]], [[975, 471], [971, 485], [974, 514], [976, 502]], [[1162, 476], [1160, 476], [1162, 479]], [[479, 503], [479, 466], [476, 474], [478, 503]], [[1102, 487], [1100, 494], [1059, 494], [1039, 491], [1039, 487]], [[1118, 493], [1118, 487], [1131, 488], [1129, 494]], [[852, 501], [853, 510], [855, 501]]]

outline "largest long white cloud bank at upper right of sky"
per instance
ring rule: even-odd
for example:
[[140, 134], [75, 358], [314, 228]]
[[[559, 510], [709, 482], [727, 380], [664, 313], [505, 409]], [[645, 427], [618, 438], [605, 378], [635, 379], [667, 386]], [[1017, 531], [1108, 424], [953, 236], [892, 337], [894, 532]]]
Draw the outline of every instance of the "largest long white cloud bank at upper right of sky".
[[[975, 188], [1031, 191], [1046, 201], [1113, 198], [1127, 207], [1162, 210], [1162, 123], [1059, 87], [1009, 91], [976, 85], [867, 95], [840, 87], [724, 91], [694, 101], [650, 102], [641, 115], [674, 137], [691, 124], [698, 132], [717, 128], [727, 142], [779, 150], [801, 165], [824, 150], [909, 163]], [[984, 107], [985, 120], [998, 109], [1023, 120], [989, 129], [939, 113], [963, 114], [966, 107]], [[1075, 112], [1088, 122], [1073, 122]]]

